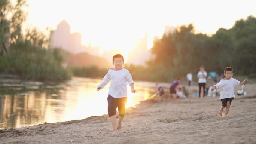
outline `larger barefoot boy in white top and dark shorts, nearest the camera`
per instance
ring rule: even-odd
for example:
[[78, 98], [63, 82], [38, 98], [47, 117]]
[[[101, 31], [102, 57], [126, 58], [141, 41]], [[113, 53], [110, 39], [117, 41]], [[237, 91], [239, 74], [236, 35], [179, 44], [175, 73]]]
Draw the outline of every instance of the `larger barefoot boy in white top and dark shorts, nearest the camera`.
[[[98, 85], [97, 90], [104, 88], [109, 81], [111, 81], [109, 86], [109, 95], [107, 97], [108, 103], [108, 114], [110, 117], [110, 122], [112, 124], [114, 132], [116, 134], [122, 127], [122, 120], [125, 115], [125, 104], [127, 102], [127, 82], [131, 86], [131, 92], [134, 93], [134, 81], [128, 70], [122, 68], [124, 64], [124, 58], [120, 54], [113, 56], [113, 65], [115, 68], [110, 68], [107, 74], [104, 76], [103, 81]], [[119, 119], [116, 125], [116, 107], [118, 108]]]

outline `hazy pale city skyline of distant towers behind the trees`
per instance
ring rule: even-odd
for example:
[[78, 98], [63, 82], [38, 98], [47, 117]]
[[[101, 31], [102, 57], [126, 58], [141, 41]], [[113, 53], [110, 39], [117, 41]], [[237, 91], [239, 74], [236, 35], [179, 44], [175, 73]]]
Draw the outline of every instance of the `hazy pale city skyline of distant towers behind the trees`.
[[[89, 43], [88, 46], [82, 45], [80, 33], [70, 33], [71, 25], [67, 21], [63, 20], [57, 25], [56, 30], [52, 30], [50, 33], [50, 47], [61, 48], [73, 54], [87, 52], [93, 56], [101, 56], [106, 58], [110, 63], [112, 62], [112, 56], [116, 53], [124, 55], [125, 62], [135, 65], [145, 65], [146, 61], [150, 59], [151, 53], [147, 49], [148, 35], [145, 34], [144, 38], [138, 39], [137, 43], [129, 51], [123, 51], [119, 49], [104, 50], [100, 53], [100, 47], [92, 47]], [[166, 27], [165, 33], [172, 33], [174, 27]], [[171, 31], [170, 31], [171, 29]], [[143, 55], [141, 55], [143, 53]]]

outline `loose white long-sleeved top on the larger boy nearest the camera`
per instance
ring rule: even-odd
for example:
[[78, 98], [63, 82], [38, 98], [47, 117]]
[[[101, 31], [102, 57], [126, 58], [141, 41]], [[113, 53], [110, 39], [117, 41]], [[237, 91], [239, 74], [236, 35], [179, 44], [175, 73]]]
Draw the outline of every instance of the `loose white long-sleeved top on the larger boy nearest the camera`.
[[[114, 98], [122, 98], [127, 96], [127, 82], [129, 85], [134, 83], [132, 76], [128, 70], [122, 68], [121, 70], [112, 70], [111, 68], [104, 76], [103, 81], [98, 87], [104, 88], [111, 80], [109, 86], [109, 95]], [[97, 88], [98, 88], [97, 87]]]

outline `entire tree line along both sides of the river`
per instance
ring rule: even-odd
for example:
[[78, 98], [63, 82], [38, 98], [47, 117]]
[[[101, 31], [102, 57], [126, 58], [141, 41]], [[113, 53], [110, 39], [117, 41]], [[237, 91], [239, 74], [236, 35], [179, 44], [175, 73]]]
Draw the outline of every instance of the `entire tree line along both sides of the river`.
[[[107, 69], [63, 66], [60, 48], [50, 48], [49, 38], [36, 28], [22, 31], [27, 13], [26, 0], [0, 0], [0, 73], [16, 74], [32, 80], [67, 80], [74, 76], [103, 77]], [[124, 65], [135, 80], [171, 82], [189, 71], [205, 70], [223, 73], [234, 68], [238, 75], [256, 77], [256, 18], [240, 19], [230, 29], [215, 34], [196, 33], [192, 24], [175, 28], [155, 40], [153, 59], [146, 66]]]

